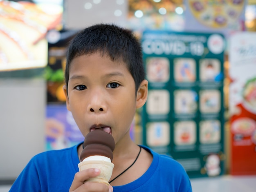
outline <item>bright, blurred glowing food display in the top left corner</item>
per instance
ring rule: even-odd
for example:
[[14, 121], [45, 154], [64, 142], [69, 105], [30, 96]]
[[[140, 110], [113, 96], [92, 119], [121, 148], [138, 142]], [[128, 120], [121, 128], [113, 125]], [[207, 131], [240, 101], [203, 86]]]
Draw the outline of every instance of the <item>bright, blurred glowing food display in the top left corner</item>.
[[58, 28], [62, 7], [0, 1], [0, 71], [45, 67], [50, 29]]

